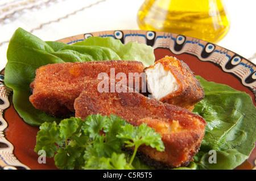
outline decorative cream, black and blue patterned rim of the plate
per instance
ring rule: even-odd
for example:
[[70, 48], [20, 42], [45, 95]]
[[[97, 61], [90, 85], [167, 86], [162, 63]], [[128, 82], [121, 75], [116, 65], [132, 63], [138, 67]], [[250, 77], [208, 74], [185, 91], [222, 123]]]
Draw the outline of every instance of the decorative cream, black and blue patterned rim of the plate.
[[[124, 32], [129, 33], [124, 34]], [[114, 39], [121, 40], [123, 44], [129, 41], [138, 41], [138, 43], [150, 45], [154, 49], [169, 49], [174, 54], [191, 54], [200, 61], [211, 62], [225, 73], [232, 74], [243, 86], [253, 92], [254, 102], [256, 101], [256, 65], [239, 54], [216, 44], [176, 33], [146, 30], [98, 31], [65, 37], [56, 41], [73, 44], [90, 36], [113, 37]], [[14, 155], [14, 145], [5, 137], [8, 123], [3, 113], [10, 106], [9, 96], [12, 96], [12, 90], [4, 83], [4, 71], [5, 68], [0, 71], [0, 100], [2, 100], [0, 103], [0, 170], [15, 170], [17, 167], [30, 170], [28, 166], [16, 158]]]

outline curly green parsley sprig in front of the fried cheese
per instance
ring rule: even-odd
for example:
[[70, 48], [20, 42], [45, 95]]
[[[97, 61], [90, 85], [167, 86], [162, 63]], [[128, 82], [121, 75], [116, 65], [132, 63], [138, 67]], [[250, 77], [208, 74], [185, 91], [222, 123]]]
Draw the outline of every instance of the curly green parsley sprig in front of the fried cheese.
[[[150, 145], [163, 151], [164, 145], [154, 128], [127, 123], [116, 115], [90, 115], [85, 120], [71, 117], [59, 125], [43, 123], [36, 136], [35, 151], [54, 157], [59, 169], [134, 169], [139, 146]], [[134, 146], [129, 157], [123, 146]]]

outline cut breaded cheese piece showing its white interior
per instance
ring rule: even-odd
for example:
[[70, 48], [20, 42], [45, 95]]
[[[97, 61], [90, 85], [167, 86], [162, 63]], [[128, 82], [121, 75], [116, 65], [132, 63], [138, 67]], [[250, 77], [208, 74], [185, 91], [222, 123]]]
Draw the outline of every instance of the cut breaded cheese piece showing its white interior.
[[164, 57], [144, 69], [152, 98], [192, 111], [204, 99], [204, 90], [193, 71], [175, 57]]

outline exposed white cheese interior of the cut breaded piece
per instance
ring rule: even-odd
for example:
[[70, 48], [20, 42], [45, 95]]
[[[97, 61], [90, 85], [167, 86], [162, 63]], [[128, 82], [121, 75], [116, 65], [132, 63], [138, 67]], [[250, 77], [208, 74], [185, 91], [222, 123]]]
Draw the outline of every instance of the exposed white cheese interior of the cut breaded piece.
[[145, 73], [148, 91], [156, 100], [175, 92], [180, 87], [171, 71], [164, 70], [161, 63], [156, 64], [154, 68], [146, 69]]

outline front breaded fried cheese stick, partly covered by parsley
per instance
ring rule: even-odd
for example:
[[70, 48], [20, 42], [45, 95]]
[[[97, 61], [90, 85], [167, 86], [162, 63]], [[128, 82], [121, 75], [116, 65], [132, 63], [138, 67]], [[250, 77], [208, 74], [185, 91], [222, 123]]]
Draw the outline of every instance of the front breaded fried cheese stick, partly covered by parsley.
[[[100, 83], [100, 80], [86, 81], [84, 90], [74, 103], [76, 117], [85, 119], [97, 113], [114, 114], [134, 126], [146, 123], [155, 128], [162, 135], [165, 150], [157, 151], [143, 145], [138, 149], [138, 156], [156, 169], [187, 166], [192, 161], [204, 137], [206, 122], [203, 117], [185, 108], [131, 92], [129, 87], [121, 92], [102, 92], [98, 90]], [[116, 85], [117, 82], [109, 81], [110, 87]]]

